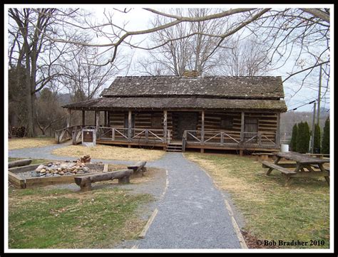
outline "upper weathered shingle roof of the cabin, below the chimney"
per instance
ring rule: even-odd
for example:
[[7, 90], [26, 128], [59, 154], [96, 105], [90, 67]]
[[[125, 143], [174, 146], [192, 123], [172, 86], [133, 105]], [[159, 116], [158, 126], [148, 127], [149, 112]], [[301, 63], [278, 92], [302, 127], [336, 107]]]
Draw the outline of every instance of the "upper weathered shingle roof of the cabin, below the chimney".
[[284, 98], [282, 78], [260, 77], [183, 77], [139, 76], [117, 77], [103, 97], [191, 96], [205, 98], [275, 99]]

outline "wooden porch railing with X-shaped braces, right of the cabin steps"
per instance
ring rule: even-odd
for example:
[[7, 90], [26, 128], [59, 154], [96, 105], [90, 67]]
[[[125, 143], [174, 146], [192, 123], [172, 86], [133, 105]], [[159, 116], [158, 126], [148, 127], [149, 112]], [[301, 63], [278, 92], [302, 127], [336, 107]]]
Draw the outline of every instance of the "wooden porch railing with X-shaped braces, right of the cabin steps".
[[234, 131], [205, 131], [185, 130], [183, 133], [183, 145], [217, 145], [217, 146], [258, 146], [277, 147], [275, 133], [270, 132], [244, 132], [241, 141], [240, 132]]

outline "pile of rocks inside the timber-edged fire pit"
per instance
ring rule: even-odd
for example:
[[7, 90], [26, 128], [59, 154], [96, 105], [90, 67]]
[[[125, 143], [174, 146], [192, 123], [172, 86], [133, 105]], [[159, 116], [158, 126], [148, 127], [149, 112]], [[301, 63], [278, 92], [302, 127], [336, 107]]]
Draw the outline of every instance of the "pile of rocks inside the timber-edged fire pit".
[[[75, 163], [74, 163], [75, 162]], [[38, 177], [63, 176], [88, 173], [89, 168], [83, 162], [49, 162], [41, 164], [35, 169]]]

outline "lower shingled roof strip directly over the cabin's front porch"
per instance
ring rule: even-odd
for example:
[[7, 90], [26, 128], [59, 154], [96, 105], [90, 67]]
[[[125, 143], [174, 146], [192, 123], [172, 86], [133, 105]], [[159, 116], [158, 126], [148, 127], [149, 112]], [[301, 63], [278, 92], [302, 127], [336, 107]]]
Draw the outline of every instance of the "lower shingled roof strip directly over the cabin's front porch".
[[221, 98], [98, 98], [64, 105], [72, 110], [113, 109], [191, 109], [191, 110], [287, 110], [284, 100], [247, 100]]

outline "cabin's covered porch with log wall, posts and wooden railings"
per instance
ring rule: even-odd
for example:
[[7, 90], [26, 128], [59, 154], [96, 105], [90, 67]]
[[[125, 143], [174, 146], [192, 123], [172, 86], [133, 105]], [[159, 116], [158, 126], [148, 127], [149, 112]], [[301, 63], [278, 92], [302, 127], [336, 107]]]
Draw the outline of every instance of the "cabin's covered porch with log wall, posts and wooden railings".
[[[86, 112], [95, 112], [86, 125]], [[108, 145], [163, 147], [181, 145], [215, 150], [280, 150], [280, 112], [224, 110], [81, 110], [82, 124], [56, 131], [56, 141], [81, 142], [81, 130], [96, 130], [96, 142]], [[101, 115], [103, 113], [103, 115]], [[101, 116], [101, 119], [100, 119]], [[103, 117], [103, 119], [102, 119]]]

